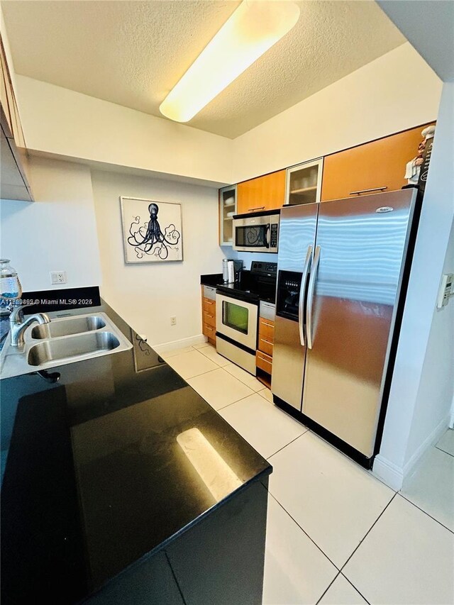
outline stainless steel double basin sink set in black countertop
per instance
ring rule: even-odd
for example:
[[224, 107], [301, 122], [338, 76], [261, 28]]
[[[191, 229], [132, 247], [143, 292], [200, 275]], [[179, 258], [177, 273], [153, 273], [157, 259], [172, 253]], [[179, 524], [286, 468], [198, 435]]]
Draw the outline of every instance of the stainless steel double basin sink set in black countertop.
[[13, 348], [6, 341], [0, 378], [117, 353], [132, 346], [106, 313], [55, 318], [28, 328], [23, 348]]

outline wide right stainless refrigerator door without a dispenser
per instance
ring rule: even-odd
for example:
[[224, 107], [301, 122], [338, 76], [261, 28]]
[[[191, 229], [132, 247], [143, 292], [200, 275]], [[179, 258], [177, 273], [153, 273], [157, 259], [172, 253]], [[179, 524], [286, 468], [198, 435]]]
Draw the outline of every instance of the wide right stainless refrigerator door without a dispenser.
[[[416, 192], [320, 204], [302, 411], [372, 456]], [[317, 266], [318, 265], [318, 266]]]

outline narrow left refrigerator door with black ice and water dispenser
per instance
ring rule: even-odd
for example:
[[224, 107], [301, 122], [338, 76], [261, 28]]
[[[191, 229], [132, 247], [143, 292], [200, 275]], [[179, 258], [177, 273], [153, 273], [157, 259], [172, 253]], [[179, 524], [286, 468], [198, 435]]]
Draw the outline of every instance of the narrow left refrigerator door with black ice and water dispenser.
[[299, 411], [306, 359], [304, 305], [318, 209], [319, 204], [287, 206], [280, 221], [271, 391]]

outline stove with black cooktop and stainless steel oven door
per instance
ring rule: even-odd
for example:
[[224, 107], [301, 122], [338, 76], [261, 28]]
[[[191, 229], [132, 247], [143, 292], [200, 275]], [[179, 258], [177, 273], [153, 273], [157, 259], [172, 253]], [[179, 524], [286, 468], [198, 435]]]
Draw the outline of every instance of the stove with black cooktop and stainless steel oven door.
[[250, 272], [216, 288], [216, 350], [255, 376], [260, 301], [275, 302], [276, 262], [253, 261]]

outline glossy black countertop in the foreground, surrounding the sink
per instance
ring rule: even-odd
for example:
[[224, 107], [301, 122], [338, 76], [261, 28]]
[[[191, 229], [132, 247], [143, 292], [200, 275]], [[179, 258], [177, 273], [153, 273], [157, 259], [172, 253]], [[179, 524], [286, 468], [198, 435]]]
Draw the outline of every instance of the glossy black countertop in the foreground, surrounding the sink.
[[0, 381], [5, 604], [82, 601], [272, 472], [108, 305], [72, 313], [95, 311], [133, 349]]

